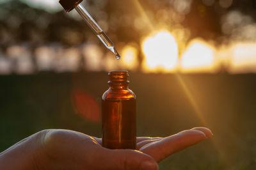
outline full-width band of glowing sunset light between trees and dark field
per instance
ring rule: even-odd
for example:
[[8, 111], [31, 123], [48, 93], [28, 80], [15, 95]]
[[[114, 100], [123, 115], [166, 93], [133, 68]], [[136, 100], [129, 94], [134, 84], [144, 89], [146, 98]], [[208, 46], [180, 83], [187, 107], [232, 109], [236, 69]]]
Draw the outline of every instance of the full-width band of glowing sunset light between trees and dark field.
[[[104, 53], [94, 43], [70, 48], [45, 45], [35, 49], [36, 65], [33, 65], [33, 54], [28, 47], [14, 45], [6, 49], [6, 54], [0, 51], [0, 74], [30, 74], [35, 68], [77, 72], [81, 61], [84, 63], [80, 69], [89, 72], [138, 71], [141, 67], [144, 73], [256, 73], [256, 42], [234, 41], [217, 46], [197, 38], [184, 45], [174, 37], [177, 36], [165, 30], [152, 33], [141, 42], [142, 55], [138, 43], [120, 43], [120, 60], [116, 60], [111, 52]], [[17, 62], [15, 66], [13, 61]]]

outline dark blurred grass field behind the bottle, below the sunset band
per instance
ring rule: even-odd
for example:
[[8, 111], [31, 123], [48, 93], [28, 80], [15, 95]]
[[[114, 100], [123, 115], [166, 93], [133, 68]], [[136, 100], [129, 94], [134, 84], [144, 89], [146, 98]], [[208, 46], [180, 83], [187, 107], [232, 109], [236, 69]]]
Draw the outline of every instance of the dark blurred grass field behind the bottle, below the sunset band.
[[[137, 134], [165, 136], [205, 126], [214, 137], [166, 158], [160, 169], [256, 169], [256, 75], [130, 73]], [[98, 102], [106, 72], [0, 76], [0, 151], [45, 128], [100, 137], [70, 102], [79, 89]]]

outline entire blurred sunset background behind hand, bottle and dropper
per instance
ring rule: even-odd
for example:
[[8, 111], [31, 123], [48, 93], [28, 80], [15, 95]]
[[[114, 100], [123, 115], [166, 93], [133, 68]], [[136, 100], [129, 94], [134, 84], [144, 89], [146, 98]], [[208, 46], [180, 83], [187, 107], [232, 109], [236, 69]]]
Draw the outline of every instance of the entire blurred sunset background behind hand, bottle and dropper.
[[45, 128], [100, 137], [110, 70], [129, 70], [138, 135], [214, 137], [160, 169], [256, 169], [255, 0], [87, 0], [122, 55], [58, 0], [0, 0], [0, 151]]

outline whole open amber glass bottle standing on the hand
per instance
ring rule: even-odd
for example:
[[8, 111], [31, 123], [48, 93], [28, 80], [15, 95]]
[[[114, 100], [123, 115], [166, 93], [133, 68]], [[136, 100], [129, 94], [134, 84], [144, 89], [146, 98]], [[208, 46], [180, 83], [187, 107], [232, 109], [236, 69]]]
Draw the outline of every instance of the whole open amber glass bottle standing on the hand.
[[109, 89], [102, 96], [102, 146], [136, 149], [136, 96], [128, 88], [128, 72], [109, 72]]

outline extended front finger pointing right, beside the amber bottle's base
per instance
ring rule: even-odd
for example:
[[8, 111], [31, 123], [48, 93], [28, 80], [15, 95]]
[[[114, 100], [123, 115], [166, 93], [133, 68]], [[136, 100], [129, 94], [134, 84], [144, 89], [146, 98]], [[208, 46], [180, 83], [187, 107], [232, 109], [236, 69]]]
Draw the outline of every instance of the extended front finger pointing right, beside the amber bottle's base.
[[193, 144], [206, 139], [204, 132], [200, 130], [185, 130], [160, 141], [143, 146], [140, 151], [152, 156], [157, 162], [160, 162], [169, 155], [184, 150]]

